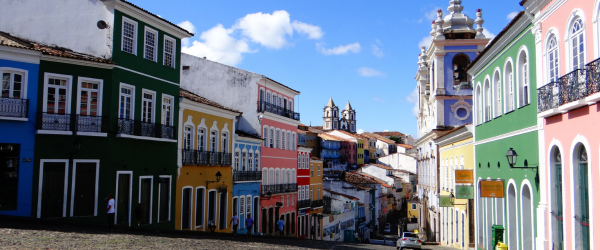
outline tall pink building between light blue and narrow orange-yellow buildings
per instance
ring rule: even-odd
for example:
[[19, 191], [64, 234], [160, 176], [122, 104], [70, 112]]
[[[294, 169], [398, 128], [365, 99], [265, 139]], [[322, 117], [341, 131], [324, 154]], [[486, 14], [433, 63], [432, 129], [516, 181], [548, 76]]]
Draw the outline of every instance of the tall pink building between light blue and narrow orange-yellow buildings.
[[261, 232], [279, 234], [277, 222], [285, 222], [284, 235], [296, 236], [298, 200], [296, 131], [300, 114], [294, 112], [294, 98], [300, 92], [272, 79], [258, 86], [258, 113], [262, 127], [261, 148]]

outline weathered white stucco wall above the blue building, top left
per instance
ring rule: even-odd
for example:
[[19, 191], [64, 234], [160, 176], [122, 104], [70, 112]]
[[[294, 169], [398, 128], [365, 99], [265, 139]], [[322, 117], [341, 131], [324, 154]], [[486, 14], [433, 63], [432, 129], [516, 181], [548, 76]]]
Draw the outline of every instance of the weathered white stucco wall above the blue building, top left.
[[0, 30], [4, 32], [100, 57], [111, 55], [112, 30], [101, 30], [96, 23], [103, 20], [112, 27], [113, 19], [114, 10], [99, 0], [55, 0], [51, 4], [8, 0], [2, 1], [0, 8]]

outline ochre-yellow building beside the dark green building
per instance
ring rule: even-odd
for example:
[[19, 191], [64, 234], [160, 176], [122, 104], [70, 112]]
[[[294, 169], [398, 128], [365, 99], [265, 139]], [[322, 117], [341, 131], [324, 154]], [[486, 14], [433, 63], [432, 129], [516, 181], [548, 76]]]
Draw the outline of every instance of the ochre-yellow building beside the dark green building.
[[180, 90], [175, 229], [229, 233], [232, 138], [241, 113]]

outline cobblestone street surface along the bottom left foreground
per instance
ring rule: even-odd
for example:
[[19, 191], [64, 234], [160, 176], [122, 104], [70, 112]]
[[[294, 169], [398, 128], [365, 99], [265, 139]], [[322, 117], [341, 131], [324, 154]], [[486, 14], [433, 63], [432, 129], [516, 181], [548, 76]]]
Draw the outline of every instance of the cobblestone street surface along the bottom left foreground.
[[[0, 248], [11, 249], [395, 249], [392, 246], [298, 239], [175, 235], [101, 228], [0, 222]], [[423, 247], [423, 249], [451, 249]]]

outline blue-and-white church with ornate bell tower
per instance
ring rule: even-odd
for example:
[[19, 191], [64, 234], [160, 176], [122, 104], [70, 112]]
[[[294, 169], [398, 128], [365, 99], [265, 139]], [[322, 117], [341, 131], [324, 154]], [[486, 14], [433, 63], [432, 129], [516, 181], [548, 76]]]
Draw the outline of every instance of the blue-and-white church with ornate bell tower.
[[[490, 39], [482, 33], [483, 19], [477, 10], [473, 20], [462, 13], [462, 1], [450, 1], [448, 11], [439, 10], [432, 23], [432, 42], [423, 47], [415, 80], [419, 93], [417, 132], [418, 196], [421, 202], [420, 232], [428, 241], [440, 241], [440, 152], [434, 139], [445, 131], [473, 121], [472, 86], [465, 72]], [[474, 25], [477, 25], [474, 27]]]

